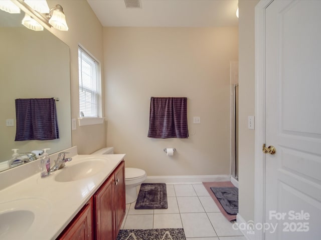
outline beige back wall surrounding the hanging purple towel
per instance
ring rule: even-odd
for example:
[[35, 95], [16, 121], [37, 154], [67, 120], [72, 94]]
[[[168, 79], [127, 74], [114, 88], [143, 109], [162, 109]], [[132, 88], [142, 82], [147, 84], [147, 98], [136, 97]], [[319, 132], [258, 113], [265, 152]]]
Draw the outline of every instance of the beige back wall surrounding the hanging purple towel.
[[[237, 27], [104, 27], [104, 57], [107, 145], [126, 153], [126, 166], [149, 176], [230, 173]], [[147, 137], [150, 96], [188, 96], [188, 139]]]

